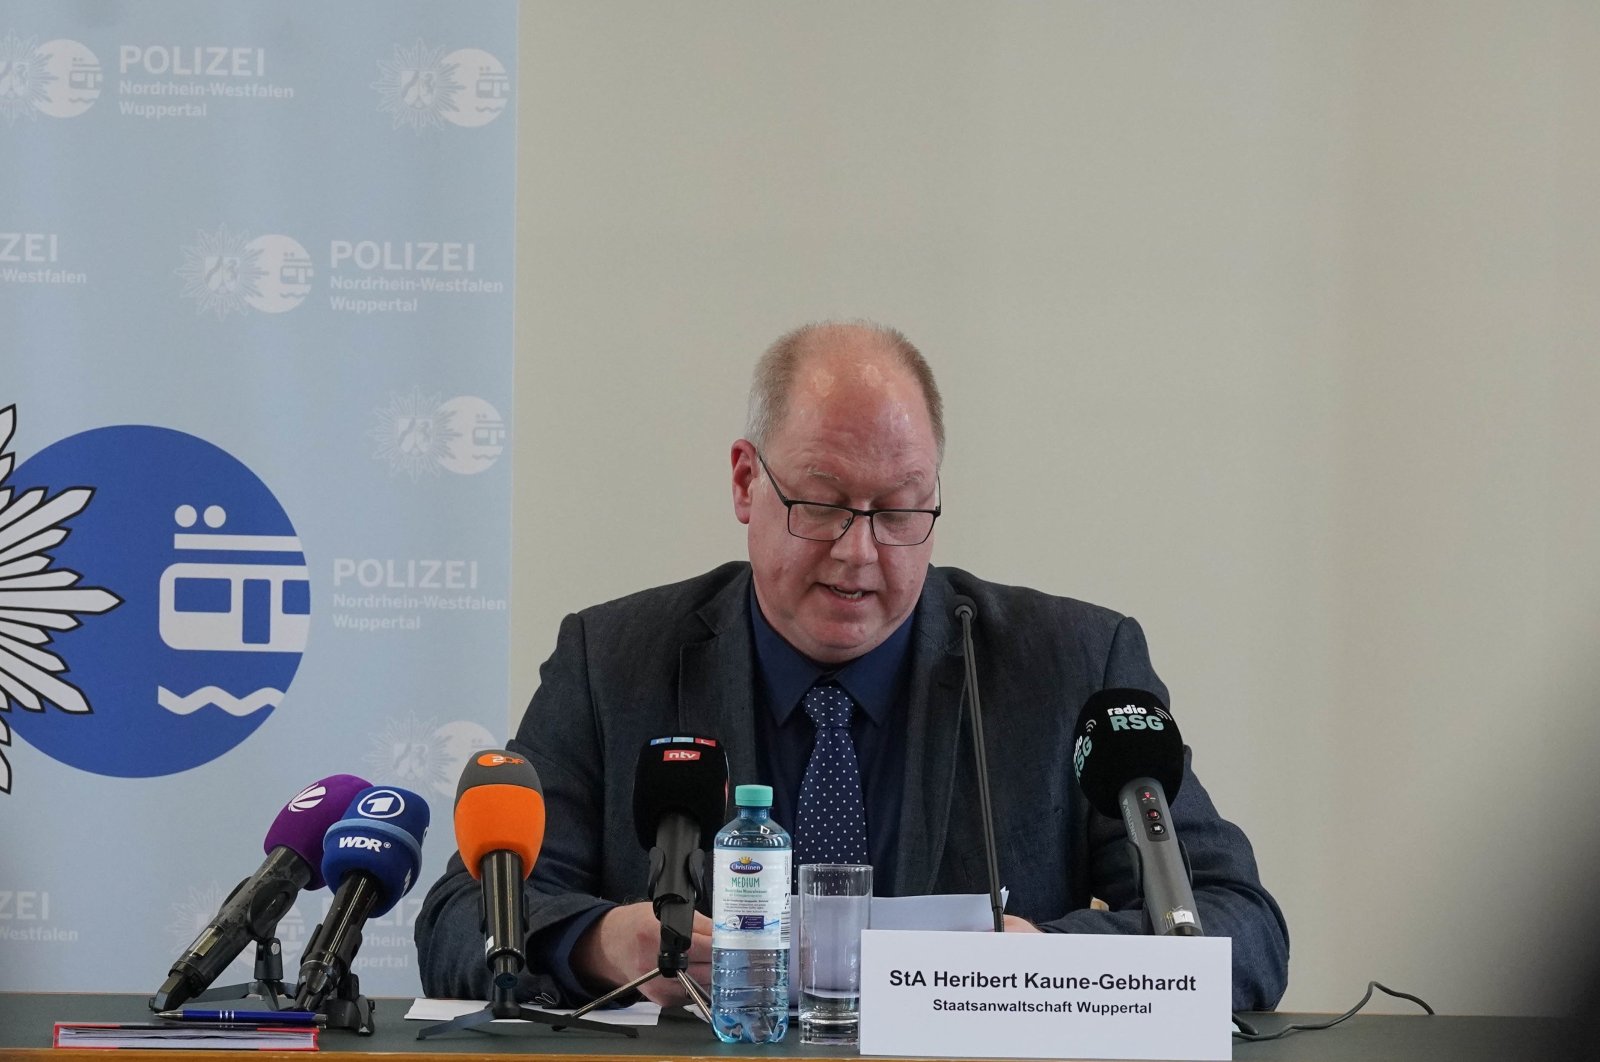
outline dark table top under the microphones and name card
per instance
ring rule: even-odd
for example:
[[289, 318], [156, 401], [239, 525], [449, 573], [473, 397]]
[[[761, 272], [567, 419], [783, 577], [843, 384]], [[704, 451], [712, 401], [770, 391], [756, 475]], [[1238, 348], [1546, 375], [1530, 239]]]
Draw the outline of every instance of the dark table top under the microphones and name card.
[[[322, 1052], [381, 1054], [386, 1062], [453, 1056], [461, 1062], [533, 1056], [536, 1059], [597, 1059], [638, 1062], [638, 1059], [858, 1059], [854, 1051], [810, 1048], [797, 1030], [779, 1044], [725, 1044], [701, 1022], [667, 1020], [640, 1028], [637, 1040], [582, 1030], [552, 1030], [542, 1025], [496, 1025], [493, 1033], [458, 1032], [419, 1041], [422, 1022], [403, 1020], [410, 1000], [378, 1000], [376, 1032], [357, 1036], [344, 1030], [322, 1035]], [[144, 996], [94, 993], [0, 993], [0, 1062], [104, 1062], [104, 1051], [53, 1049], [51, 1032], [58, 1020], [141, 1022], [149, 1020]], [[1294, 1020], [1325, 1020], [1326, 1016], [1259, 1014], [1248, 1020], [1259, 1032], [1272, 1032]], [[1451, 1016], [1357, 1016], [1322, 1032], [1296, 1032], [1269, 1043], [1234, 1041], [1237, 1062], [1502, 1062], [1507, 1059], [1590, 1057], [1594, 1041], [1579, 1046], [1576, 1033], [1541, 1017], [1451, 1017]], [[1064, 1052], [1070, 1051], [1064, 1046]], [[1574, 1054], [1576, 1051], [1576, 1054]], [[304, 1059], [296, 1052], [251, 1052], [253, 1057]], [[141, 1051], [139, 1062], [221, 1062], [238, 1059], [237, 1051]], [[1066, 1057], [1066, 1056], [1064, 1056]]]

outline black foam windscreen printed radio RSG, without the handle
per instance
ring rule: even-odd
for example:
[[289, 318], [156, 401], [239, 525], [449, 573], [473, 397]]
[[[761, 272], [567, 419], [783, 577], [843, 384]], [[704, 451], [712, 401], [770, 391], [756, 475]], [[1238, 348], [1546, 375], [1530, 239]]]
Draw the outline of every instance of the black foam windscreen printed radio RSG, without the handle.
[[1072, 771], [1090, 803], [1122, 817], [1117, 795], [1136, 777], [1160, 782], [1166, 801], [1184, 781], [1184, 739], [1160, 697], [1144, 689], [1101, 689], [1083, 702], [1072, 742]]

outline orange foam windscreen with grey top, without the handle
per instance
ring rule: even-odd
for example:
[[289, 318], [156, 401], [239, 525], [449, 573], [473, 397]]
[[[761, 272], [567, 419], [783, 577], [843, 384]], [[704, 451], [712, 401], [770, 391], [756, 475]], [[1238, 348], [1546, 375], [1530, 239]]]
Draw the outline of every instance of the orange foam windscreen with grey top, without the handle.
[[467, 873], [480, 878], [490, 852], [515, 852], [522, 875], [533, 872], [544, 844], [544, 790], [539, 773], [504, 749], [474, 753], [456, 785], [456, 848]]

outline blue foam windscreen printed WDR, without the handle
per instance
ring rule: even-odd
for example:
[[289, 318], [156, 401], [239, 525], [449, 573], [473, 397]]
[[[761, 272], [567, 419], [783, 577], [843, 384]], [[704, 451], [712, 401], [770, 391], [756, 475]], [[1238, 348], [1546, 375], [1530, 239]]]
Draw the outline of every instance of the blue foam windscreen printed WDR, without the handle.
[[416, 884], [427, 835], [427, 801], [408, 789], [371, 785], [350, 801], [323, 838], [322, 875], [334, 888], [350, 873], [378, 880], [371, 918], [389, 913]]

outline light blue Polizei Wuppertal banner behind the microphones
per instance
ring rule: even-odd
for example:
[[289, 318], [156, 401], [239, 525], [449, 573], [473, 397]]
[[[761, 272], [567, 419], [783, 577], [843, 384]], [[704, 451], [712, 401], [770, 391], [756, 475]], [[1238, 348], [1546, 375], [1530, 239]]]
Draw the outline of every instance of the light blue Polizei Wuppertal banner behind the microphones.
[[514, 0], [0, 10], [0, 988], [154, 992], [355, 774], [432, 804], [355, 961], [419, 990], [506, 737], [515, 42]]

